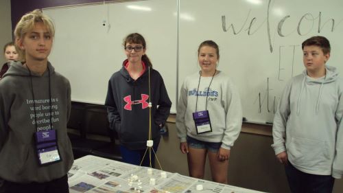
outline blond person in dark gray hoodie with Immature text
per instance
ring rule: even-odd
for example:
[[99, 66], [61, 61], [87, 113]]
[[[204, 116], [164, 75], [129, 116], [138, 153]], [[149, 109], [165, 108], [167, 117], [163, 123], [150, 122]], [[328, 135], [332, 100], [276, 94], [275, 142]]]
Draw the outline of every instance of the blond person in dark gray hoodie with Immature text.
[[23, 61], [12, 62], [0, 81], [0, 192], [69, 192], [71, 87], [48, 61], [54, 34], [41, 10], [16, 24]]

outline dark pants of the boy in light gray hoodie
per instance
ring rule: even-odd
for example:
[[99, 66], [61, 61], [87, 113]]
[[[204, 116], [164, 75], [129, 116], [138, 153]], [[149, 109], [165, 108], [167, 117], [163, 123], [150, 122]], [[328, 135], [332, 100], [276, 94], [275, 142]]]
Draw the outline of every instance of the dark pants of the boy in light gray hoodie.
[[285, 166], [289, 188], [292, 193], [331, 193], [335, 179], [331, 175], [307, 174], [294, 168], [291, 163]]

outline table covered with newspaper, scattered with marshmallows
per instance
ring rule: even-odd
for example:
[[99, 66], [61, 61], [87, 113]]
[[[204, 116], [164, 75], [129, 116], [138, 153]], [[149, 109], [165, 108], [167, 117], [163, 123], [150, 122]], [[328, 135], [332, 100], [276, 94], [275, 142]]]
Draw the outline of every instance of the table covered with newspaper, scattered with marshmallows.
[[68, 178], [71, 193], [259, 193], [93, 155], [76, 159]]

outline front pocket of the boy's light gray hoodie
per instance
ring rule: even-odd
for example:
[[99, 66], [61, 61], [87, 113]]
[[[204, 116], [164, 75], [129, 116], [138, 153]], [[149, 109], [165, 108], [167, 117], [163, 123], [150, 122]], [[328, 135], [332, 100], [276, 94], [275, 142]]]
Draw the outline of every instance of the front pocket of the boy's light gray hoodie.
[[287, 154], [294, 165], [309, 170], [330, 170], [331, 159], [325, 141], [292, 137]]

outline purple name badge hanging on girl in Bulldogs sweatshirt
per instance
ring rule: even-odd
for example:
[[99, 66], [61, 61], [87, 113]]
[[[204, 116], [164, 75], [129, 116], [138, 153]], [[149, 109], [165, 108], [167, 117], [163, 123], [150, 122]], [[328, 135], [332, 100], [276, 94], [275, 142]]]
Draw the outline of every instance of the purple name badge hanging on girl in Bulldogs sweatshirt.
[[193, 120], [196, 124], [196, 133], [207, 133], [212, 131], [209, 111], [198, 111], [193, 113]]

